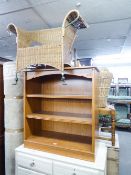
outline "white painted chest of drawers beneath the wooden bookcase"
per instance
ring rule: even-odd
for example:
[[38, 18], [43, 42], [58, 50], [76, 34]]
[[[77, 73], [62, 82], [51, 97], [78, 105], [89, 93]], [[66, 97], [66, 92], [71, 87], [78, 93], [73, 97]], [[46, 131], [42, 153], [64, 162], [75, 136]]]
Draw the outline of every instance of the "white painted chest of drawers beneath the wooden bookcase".
[[107, 147], [97, 143], [96, 160], [88, 162], [20, 146], [16, 175], [106, 175]]

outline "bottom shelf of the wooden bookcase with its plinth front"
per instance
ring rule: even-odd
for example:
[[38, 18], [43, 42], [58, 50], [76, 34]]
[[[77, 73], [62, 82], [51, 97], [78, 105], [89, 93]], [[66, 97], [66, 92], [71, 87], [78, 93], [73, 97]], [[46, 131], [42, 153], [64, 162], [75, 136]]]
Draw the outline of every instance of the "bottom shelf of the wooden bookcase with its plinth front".
[[25, 141], [25, 146], [52, 153], [62, 152], [65, 156], [72, 155], [78, 158], [83, 154], [85, 158], [93, 161], [91, 138], [85, 136], [44, 131], [39, 135], [31, 135]]

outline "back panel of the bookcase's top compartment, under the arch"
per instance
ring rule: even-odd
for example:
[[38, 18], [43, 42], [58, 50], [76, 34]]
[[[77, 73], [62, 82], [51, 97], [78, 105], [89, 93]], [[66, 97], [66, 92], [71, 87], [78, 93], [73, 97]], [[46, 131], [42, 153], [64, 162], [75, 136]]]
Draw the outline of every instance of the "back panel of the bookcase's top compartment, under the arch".
[[61, 81], [61, 75], [47, 76], [42, 84], [43, 94], [74, 94], [92, 96], [92, 81], [77, 76], [65, 76], [65, 83]]

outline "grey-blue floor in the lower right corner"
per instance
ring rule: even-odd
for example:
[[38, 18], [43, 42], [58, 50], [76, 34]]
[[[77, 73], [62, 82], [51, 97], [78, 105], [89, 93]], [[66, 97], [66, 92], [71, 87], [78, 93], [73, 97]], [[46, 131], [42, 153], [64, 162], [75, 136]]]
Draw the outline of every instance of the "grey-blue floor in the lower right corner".
[[117, 131], [120, 143], [120, 173], [131, 175], [131, 131]]

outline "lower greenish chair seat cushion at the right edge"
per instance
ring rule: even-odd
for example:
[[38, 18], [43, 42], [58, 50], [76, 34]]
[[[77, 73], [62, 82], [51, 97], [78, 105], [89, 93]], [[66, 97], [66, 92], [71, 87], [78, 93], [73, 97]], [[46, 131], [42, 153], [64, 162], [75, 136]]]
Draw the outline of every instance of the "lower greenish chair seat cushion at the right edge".
[[129, 119], [119, 119], [116, 122], [116, 126], [122, 128], [129, 128], [131, 126], [131, 122]]

